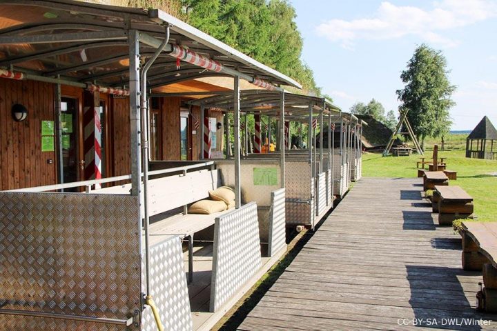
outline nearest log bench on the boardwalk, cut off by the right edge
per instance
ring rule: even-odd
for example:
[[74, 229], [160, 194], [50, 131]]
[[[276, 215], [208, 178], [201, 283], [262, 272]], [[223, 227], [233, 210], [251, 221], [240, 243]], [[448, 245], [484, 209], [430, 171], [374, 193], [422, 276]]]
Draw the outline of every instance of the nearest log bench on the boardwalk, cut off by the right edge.
[[497, 222], [462, 222], [462, 268], [483, 272], [476, 297], [486, 312], [497, 312]]

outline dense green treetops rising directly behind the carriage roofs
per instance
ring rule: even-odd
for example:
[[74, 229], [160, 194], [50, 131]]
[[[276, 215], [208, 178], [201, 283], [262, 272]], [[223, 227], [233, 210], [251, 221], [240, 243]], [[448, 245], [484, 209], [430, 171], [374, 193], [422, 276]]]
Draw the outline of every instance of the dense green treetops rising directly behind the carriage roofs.
[[[286, 0], [181, 0], [186, 20], [229, 46], [299, 81], [320, 95], [313, 72], [300, 59], [302, 35]], [[289, 88], [291, 92], [300, 90]]]

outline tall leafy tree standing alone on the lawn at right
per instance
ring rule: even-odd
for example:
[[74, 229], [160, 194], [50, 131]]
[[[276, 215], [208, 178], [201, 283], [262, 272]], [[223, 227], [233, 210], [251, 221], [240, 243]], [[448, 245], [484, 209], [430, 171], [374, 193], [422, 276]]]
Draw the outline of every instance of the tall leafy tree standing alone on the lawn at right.
[[400, 109], [409, 111], [407, 119], [422, 148], [426, 137], [440, 137], [450, 129], [449, 110], [456, 104], [451, 95], [456, 86], [449, 82], [448, 73], [442, 51], [422, 44], [400, 74], [405, 83], [402, 90], [397, 90]]

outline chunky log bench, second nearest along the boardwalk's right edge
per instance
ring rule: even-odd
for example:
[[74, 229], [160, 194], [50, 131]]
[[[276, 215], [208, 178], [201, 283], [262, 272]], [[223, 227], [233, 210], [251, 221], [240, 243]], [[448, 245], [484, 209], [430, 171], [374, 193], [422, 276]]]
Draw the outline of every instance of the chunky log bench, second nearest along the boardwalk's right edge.
[[456, 219], [473, 217], [473, 198], [459, 186], [435, 185], [433, 200], [437, 201], [436, 209], [439, 213], [438, 224], [440, 225], [452, 225]]

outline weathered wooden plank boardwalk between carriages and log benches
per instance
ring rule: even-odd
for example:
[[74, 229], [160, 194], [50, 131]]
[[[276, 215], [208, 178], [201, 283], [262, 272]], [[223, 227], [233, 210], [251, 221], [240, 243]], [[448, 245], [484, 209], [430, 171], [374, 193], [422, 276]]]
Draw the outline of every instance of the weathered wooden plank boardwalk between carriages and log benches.
[[460, 237], [420, 182], [356, 183], [238, 330], [497, 329], [447, 325], [496, 317], [474, 309], [481, 276], [462, 271]]

